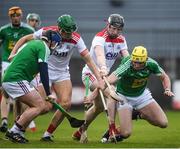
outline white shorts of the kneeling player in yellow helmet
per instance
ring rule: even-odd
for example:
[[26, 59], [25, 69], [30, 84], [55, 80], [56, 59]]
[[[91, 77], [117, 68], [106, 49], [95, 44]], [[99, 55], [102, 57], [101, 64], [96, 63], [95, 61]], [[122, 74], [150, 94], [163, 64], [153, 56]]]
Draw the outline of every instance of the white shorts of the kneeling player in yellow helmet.
[[[119, 94], [119, 93], [118, 93]], [[151, 95], [149, 89], [145, 89], [144, 92], [137, 97], [129, 97], [119, 94], [119, 96], [123, 96], [126, 99], [125, 104], [118, 103], [117, 109], [120, 110], [122, 108], [128, 107], [130, 109], [142, 109], [143, 107], [147, 106], [151, 102], [155, 102], [154, 98]]]

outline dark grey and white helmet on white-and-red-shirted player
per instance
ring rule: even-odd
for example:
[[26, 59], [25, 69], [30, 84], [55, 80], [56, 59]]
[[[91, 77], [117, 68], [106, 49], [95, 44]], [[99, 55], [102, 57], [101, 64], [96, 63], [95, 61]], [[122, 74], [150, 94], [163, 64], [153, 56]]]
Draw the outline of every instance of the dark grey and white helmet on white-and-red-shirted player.
[[111, 14], [108, 18], [108, 23], [117, 28], [124, 27], [124, 18], [119, 14]]

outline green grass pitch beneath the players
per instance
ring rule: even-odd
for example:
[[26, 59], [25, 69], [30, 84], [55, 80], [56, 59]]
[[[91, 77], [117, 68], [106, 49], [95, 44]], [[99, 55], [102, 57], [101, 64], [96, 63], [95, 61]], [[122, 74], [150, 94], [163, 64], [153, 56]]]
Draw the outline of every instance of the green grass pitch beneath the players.
[[[72, 111], [73, 116], [83, 119], [82, 111]], [[38, 117], [35, 122], [37, 131], [27, 131], [28, 144], [12, 143], [4, 139], [0, 133], [0, 148], [179, 148], [180, 147], [180, 112], [166, 112], [169, 126], [161, 129], [150, 125], [144, 120], [133, 121], [132, 136], [117, 144], [102, 144], [100, 138], [107, 129], [108, 123], [105, 113], [100, 114], [88, 129], [87, 144], [80, 144], [72, 140], [71, 135], [76, 130], [71, 128], [68, 120], [64, 120], [54, 133], [54, 143], [41, 142], [40, 138], [46, 130], [52, 113]], [[12, 119], [12, 114], [10, 118]], [[12, 121], [9, 125], [12, 126]]]

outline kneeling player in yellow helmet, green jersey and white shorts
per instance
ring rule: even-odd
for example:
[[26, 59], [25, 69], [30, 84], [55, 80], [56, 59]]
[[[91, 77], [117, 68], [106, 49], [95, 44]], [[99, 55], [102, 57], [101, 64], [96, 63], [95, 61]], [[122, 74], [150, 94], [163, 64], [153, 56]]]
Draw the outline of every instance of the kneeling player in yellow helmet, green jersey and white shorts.
[[[122, 141], [132, 133], [132, 110], [150, 124], [160, 128], [168, 126], [168, 119], [152, 97], [147, 88], [147, 80], [151, 74], [158, 76], [164, 88], [166, 96], [174, 96], [171, 91], [171, 82], [165, 71], [159, 64], [148, 57], [145, 47], [137, 46], [133, 49], [131, 56], [122, 60], [119, 67], [107, 78], [110, 84], [116, 83], [116, 93], [125, 99], [125, 103], [117, 105], [120, 118], [120, 135], [117, 140]], [[105, 134], [102, 142], [108, 140], [109, 134]]]

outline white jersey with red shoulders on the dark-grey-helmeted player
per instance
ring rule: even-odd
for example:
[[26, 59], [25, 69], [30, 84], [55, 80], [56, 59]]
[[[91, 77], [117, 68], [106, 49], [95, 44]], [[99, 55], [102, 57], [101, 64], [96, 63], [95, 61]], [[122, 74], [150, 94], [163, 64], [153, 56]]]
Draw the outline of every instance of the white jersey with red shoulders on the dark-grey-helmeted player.
[[[121, 55], [121, 51], [128, 49], [126, 39], [124, 36], [119, 35], [117, 38], [112, 39], [109, 37], [107, 29], [102, 30], [101, 32], [95, 35], [90, 49], [90, 55], [97, 66], [98, 63], [94, 50], [95, 46], [97, 45], [102, 46], [104, 48], [106, 66], [108, 71], [110, 71], [112, 65], [114, 64], [118, 56]], [[83, 72], [91, 73], [87, 65], [85, 65]]]

